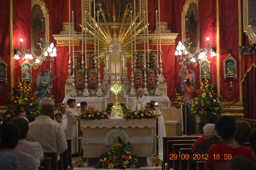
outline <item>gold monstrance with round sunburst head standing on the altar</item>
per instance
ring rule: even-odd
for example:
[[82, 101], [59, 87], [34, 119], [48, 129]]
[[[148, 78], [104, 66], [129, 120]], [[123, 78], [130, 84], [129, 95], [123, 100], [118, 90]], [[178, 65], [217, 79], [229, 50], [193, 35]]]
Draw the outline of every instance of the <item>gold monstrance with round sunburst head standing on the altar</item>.
[[[121, 92], [121, 90], [122, 90], [122, 86], [120, 86], [117, 83], [115, 83], [111, 86], [111, 92], [116, 94], [116, 102], [114, 103], [114, 105], [112, 107], [110, 116], [123, 116], [122, 106], [117, 101], [117, 94], [119, 94]], [[113, 114], [114, 112], [115, 112], [115, 115]]]

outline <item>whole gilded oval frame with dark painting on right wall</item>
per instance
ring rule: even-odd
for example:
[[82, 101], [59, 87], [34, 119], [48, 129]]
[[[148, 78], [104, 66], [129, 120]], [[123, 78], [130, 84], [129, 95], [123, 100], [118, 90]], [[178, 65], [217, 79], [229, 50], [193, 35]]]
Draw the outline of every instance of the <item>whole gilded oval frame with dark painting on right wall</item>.
[[187, 41], [188, 31], [190, 47], [188, 57], [192, 58], [199, 51], [198, 0], [187, 0], [181, 11], [182, 42]]

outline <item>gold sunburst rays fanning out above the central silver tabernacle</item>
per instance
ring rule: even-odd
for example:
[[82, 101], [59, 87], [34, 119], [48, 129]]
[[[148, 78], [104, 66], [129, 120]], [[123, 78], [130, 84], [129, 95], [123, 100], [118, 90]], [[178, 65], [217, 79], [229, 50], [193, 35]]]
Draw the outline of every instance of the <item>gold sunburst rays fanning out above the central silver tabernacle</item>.
[[[100, 59], [105, 58], [104, 49], [108, 48], [113, 42], [114, 42], [114, 33], [116, 33], [116, 39], [117, 42], [124, 48], [125, 50], [125, 57], [127, 60], [131, 62], [131, 29], [134, 32], [136, 29], [136, 39], [140, 39], [142, 35], [139, 35], [141, 31], [147, 28], [147, 24], [145, 26], [142, 26], [143, 19], [136, 24], [136, 28], [134, 28], [134, 24], [136, 20], [139, 18], [139, 12], [135, 18], [133, 18], [132, 23], [130, 22], [130, 17], [132, 15], [132, 12], [130, 9], [128, 9], [128, 5], [126, 5], [125, 11], [123, 16], [120, 18], [120, 8], [119, 8], [119, 14], [118, 17], [113, 15], [111, 18], [111, 15], [109, 13], [108, 9], [108, 18], [105, 16], [104, 11], [100, 7], [101, 17], [99, 17], [99, 26], [95, 18], [89, 14], [89, 17], [91, 21], [93, 22], [93, 25], [96, 26], [95, 28], [95, 35], [94, 35], [94, 27], [90, 25], [89, 22], [87, 22], [87, 28], [82, 28], [82, 30], [86, 30], [89, 34], [91, 34], [93, 37], [98, 39], [99, 36], [99, 43], [100, 43], [100, 49], [99, 49], [99, 57]], [[115, 14], [116, 9], [113, 4], [113, 14]], [[96, 12], [97, 15], [97, 12]], [[87, 21], [86, 18], [83, 18], [84, 21]], [[120, 19], [120, 20], [119, 20]], [[114, 26], [114, 27], [113, 27]], [[80, 25], [80, 27], [82, 27]], [[98, 29], [99, 27], [99, 29]], [[99, 32], [98, 32], [99, 30]], [[135, 41], [135, 35], [133, 34], [132, 37], [133, 41]], [[89, 41], [90, 43], [94, 43], [93, 41]], [[138, 41], [137, 41], [138, 42]], [[95, 54], [95, 57], [98, 56], [98, 54]]]

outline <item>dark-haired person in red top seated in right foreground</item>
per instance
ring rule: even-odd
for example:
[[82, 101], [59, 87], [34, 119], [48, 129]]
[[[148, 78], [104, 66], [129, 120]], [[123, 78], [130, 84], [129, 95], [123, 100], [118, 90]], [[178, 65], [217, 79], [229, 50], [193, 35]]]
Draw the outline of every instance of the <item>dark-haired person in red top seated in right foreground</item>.
[[253, 161], [250, 148], [240, 146], [236, 143], [236, 140], [234, 140], [236, 122], [233, 117], [227, 115], [220, 117], [216, 124], [216, 130], [223, 144], [213, 144], [210, 147], [208, 160], [206, 160], [204, 165], [205, 170], [216, 169], [217, 165], [223, 164], [229, 158], [235, 156], [242, 156]]

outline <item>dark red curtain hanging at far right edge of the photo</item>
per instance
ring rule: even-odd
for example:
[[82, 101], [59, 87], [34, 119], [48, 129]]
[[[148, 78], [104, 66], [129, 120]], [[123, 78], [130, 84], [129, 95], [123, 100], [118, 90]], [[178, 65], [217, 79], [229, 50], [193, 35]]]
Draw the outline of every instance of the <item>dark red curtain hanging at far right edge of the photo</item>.
[[251, 65], [251, 69], [243, 82], [244, 116], [256, 119], [256, 65]]

